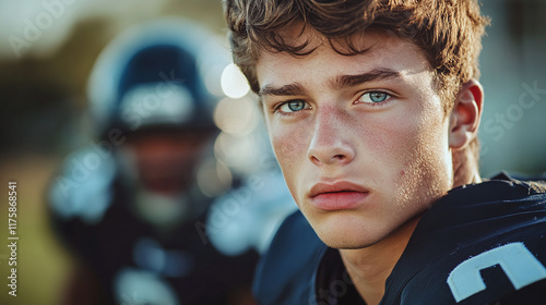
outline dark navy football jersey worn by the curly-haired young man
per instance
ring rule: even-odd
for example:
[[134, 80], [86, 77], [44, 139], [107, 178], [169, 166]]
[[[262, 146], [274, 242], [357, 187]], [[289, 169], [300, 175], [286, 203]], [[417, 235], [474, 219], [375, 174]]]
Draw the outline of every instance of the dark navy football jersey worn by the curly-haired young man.
[[[380, 304], [546, 304], [546, 185], [500, 174], [450, 191], [419, 220]], [[269, 304], [365, 304], [336, 249], [288, 217], [257, 270]]]

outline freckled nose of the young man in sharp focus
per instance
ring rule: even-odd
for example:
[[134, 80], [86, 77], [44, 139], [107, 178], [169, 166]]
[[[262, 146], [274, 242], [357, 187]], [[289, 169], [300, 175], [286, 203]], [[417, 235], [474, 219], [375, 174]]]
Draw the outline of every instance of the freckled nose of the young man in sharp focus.
[[333, 111], [317, 113], [312, 138], [307, 150], [309, 160], [316, 166], [347, 164], [356, 156], [351, 141], [347, 119]]

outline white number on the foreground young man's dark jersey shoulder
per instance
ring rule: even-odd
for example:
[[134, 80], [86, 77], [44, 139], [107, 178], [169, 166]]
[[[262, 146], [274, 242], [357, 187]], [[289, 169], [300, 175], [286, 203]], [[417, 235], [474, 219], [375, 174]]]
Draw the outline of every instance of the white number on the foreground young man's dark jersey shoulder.
[[485, 290], [479, 270], [495, 265], [500, 265], [517, 290], [546, 279], [546, 268], [523, 243], [507, 244], [471, 257], [451, 271], [448, 284], [455, 301]]

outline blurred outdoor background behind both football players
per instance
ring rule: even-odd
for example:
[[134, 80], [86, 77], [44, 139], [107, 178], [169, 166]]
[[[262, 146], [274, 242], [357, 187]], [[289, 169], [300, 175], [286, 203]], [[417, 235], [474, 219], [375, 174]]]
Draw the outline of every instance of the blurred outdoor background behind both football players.
[[[479, 131], [482, 173], [542, 174], [546, 1], [488, 0], [483, 11], [492, 23], [480, 57], [486, 102]], [[86, 84], [97, 56], [123, 29], [159, 16], [190, 19], [225, 44], [219, 0], [0, 0], [0, 194], [8, 197], [8, 182], [17, 182], [20, 236], [17, 297], [8, 295], [9, 252], [0, 247], [0, 304], [58, 304], [72, 258], [49, 229], [46, 187], [71, 151], [93, 142]], [[268, 144], [257, 135], [262, 125], [252, 96], [245, 86], [219, 94], [230, 96], [232, 103], [221, 101], [216, 110], [223, 132], [215, 157], [239, 174], [266, 170], [271, 158], [260, 159], [262, 150], [253, 149]], [[0, 209], [0, 241], [7, 242], [5, 198]]]

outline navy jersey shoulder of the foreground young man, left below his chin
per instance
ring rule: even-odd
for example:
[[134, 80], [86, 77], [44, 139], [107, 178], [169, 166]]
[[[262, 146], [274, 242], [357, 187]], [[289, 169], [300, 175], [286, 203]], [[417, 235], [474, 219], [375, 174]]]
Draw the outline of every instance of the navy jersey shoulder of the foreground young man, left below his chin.
[[299, 210], [289, 215], [257, 268], [253, 293], [260, 304], [307, 304], [325, 249]]

